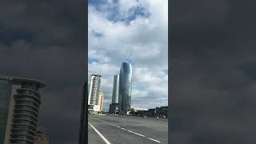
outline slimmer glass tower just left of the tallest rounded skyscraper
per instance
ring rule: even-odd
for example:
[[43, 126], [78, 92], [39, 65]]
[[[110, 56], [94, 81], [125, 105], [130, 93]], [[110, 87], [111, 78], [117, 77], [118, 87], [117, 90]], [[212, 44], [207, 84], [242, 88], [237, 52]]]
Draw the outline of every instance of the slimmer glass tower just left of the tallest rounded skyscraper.
[[114, 75], [112, 103], [110, 104], [109, 113], [116, 114], [118, 112], [118, 90], [119, 90], [119, 76]]

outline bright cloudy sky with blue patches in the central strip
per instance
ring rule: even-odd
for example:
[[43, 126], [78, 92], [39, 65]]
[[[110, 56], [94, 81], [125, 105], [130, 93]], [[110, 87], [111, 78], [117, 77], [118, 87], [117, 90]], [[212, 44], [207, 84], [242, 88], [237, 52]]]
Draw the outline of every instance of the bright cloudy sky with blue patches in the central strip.
[[167, 106], [168, 0], [89, 1], [88, 70], [102, 74], [103, 110], [124, 61], [133, 67], [131, 106]]

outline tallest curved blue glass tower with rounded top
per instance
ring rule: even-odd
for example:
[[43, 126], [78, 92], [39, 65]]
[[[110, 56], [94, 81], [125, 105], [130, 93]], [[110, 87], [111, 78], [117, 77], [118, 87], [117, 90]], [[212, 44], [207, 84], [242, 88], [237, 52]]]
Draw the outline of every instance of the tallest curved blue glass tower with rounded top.
[[127, 114], [130, 111], [132, 89], [132, 67], [129, 62], [122, 62], [119, 74], [118, 113]]

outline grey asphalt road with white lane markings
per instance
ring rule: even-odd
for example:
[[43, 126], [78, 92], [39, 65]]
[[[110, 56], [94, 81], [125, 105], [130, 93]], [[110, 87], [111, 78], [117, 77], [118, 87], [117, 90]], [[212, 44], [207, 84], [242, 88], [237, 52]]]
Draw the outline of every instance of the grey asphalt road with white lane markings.
[[121, 115], [90, 115], [90, 144], [168, 143], [168, 120]]

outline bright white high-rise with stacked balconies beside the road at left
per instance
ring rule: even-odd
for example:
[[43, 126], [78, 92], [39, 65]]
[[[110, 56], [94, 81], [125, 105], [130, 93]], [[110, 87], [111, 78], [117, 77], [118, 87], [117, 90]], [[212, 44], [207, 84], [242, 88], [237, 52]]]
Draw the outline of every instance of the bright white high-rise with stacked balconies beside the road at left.
[[90, 74], [89, 79], [89, 98], [88, 98], [88, 110], [97, 111], [98, 109], [98, 96], [101, 86], [101, 77], [99, 74]]

